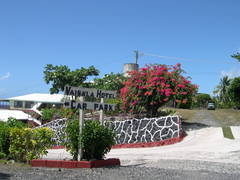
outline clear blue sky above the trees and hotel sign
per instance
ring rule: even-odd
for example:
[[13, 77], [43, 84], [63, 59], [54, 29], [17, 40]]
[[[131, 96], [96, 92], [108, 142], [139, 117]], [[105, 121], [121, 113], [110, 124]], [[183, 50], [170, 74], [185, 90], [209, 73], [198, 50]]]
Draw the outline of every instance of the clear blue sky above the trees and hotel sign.
[[230, 55], [240, 50], [238, 0], [0, 1], [0, 98], [47, 93], [46, 64], [72, 70], [94, 65], [122, 72], [134, 50], [176, 64], [211, 93], [223, 75], [240, 76]]

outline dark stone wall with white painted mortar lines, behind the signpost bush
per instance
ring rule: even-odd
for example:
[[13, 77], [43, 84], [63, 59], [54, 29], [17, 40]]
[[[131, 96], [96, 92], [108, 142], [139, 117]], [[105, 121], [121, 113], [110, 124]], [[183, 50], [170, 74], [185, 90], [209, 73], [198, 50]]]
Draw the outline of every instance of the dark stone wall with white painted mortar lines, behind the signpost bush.
[[[41, 126], [49, 127], [55, 132], [56, 145], [61, 145], [60, 136], [66, 127], [66, 121], [66, 119], [58, 119]], [[181, 131], [179, 116], [108, 121], [105, 124], [116, 132], [116, 144], [157, 142], [179, 137]]]

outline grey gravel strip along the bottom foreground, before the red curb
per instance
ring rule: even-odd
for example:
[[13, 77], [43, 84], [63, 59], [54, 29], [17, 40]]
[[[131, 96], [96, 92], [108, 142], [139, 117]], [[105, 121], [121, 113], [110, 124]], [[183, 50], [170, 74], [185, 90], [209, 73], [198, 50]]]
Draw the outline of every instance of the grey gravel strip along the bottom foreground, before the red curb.
[[139, 164], [134, 166], [97, 169], [55, 169], [0, 164], [0, 179], [240, 179], [240, 167], [233, 164], [161, 160], [153, 164], [153, 166], [154, 167], [144, 167], [144, 164]]

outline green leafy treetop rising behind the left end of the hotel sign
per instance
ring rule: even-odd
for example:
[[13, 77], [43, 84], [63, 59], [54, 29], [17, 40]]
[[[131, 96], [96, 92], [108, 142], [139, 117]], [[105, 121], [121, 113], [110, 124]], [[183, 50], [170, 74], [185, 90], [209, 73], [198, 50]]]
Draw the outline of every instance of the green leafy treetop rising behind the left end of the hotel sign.
[[99, 71], [94, 66], [81, 68], [71, 71], [66, 65], [53, 66], [47, 64], [44, 69], [44, 80], [47, 84], [51, 83], [50, 93], [59, 93], [64, 91], [65, 85], [70, 86], [88, 86], [84, 83], [88, 76], [97, 76]]

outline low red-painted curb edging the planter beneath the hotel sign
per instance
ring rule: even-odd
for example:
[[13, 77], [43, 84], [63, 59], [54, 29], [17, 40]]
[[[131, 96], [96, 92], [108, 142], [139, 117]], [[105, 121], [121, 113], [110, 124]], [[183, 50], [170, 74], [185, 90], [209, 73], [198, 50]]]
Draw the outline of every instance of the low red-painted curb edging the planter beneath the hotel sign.
[[49, 168], [98, 168], [105, 166], [120, 166], [119, 159], [106, 159], [94, 161], [64, 161], [64, 160], [41, 160], [34, 159], [31, 161], [32, 167], [49, 167]]

